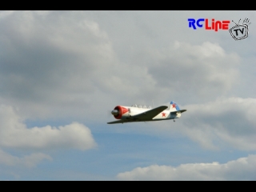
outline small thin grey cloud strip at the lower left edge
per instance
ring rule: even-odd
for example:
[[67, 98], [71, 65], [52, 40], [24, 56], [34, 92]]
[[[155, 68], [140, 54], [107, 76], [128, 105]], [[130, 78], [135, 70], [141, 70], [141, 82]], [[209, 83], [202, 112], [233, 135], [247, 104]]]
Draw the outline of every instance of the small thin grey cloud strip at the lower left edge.
[[35, 167], [39, 162], [42, 162], [45, 159], [50, 161], [52, 160], [49, 155], [42, 153], [25, 155], [23, 158], [18, 158], [11, 154], [7, 154], [0, 149], [0, 164], [6, 166], [26, 166], [31, 168]]

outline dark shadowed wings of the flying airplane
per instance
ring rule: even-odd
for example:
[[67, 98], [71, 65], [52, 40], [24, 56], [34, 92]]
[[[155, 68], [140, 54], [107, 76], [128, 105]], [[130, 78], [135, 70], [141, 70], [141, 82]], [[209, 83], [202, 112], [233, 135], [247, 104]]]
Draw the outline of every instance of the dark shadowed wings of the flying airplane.
[[124, 123], [124, 122], [138, 122], [138, 121], [148, 121], [160, 114], [163, 110], [166, 110], [168, 106], [158, 106], [152, 110], [147, 110], [141, 114], [136, 114], [132, 116], [130, 119], [122, 119], [114, 122], [108, 122], [107, 124], [114, 123]]

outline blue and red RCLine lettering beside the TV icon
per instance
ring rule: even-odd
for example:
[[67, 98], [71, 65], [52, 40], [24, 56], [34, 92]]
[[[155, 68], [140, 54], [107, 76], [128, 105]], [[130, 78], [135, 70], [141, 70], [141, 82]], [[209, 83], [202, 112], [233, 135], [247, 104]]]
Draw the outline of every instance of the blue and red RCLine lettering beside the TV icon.
[[196, 30], [196, 26], [195, 23], [198, 27], [202, 27], [203, 23], [205, 22], [205, 29], [206, 30], [215, 30], [216, 32], [218, 30], [228, 30], [229, 29], [229, 24], [230, 21], [216, 21], [213, 19], [211, 19], [211, 25], [208, 22], [208, 18], [204, 19], [204, 18], [199, 18], [198, 20], [195, 20], [194, 18], [188, 18], [187, 21], [189, 22], [189, 27], [193, 27], [194, 30]]

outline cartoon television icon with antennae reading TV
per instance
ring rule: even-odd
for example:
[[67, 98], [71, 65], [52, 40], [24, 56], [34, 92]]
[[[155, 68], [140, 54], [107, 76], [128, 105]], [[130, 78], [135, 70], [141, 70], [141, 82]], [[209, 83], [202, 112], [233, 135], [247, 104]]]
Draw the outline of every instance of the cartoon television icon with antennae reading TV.
[[[241, 18], [240, 18], [240, 20], [241, 20]], [[239, 20], [239, 22], [240, 22], [240, 20]], [[250, 25], [250, 23], [248, 24], [249, 21], [250, 21], [250, 19], [245, 18], [245, 20], [243, 20], [241, 25], [239, 25], [239, 22], [238, 22], [238, 24], [234, 22], [236, 24], [236, 26], [233, 26], [232, 28], [230, 28], [230, 34], [231, 34], [232, 38], [234, 38], [234, 40], [241, 40], [243, 38], [248, 37], [248, 34], [249, 34], [248, 25]], [[232, 22], [233, 22], [233, 20], [232, 20]]]

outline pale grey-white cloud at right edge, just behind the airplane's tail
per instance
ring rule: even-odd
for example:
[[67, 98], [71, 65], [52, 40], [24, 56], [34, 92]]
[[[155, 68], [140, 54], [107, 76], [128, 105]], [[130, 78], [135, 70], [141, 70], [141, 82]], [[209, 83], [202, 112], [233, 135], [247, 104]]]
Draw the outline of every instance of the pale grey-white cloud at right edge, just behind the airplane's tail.
[[256, 98], [218, 98], [184, 108], [180, 130], [203, 147], [219, 149], [226, 143], [256, 150]]

